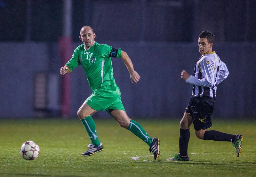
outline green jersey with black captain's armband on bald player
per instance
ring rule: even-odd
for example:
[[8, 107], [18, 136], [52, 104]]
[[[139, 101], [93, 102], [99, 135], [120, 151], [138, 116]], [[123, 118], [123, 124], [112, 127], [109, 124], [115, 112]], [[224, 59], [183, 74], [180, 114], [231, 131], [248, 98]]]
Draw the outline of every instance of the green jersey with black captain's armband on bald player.
[[85, 50], [84, 44], [81, 44], [74, 50], [72, 58], [66, 65], [71, 71], [78, 65], [82, 65], [89, 85], [94, 91], [96, 88], [116, 83], [113, 77], [111, 57], [120, 58], [121, 49], [95, 42], [88, 50]]

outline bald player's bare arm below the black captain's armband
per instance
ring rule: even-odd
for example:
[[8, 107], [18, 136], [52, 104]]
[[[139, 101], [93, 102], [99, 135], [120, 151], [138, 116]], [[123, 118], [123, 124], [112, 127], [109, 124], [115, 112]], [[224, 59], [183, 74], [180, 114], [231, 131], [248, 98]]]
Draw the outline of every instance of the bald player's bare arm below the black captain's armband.
[[130, 73], [132, 83], [137, 83], [140, 80], [140, 75], [133, 69], [132, 60], [125, 51], [121, 52], [121, 59]]

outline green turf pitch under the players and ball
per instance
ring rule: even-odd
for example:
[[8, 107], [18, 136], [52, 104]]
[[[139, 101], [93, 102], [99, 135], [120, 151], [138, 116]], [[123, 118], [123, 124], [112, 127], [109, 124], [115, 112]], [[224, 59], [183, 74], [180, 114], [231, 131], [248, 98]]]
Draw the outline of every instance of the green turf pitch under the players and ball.
[[[199, 140], [192, 126], [189, 162], [166, 161], [179, 150], [178, 119], [137, 121], [160, 139], [159, 162], [146, 143], [113, 119], [95, 120], [105, 149], [90, 157], [81, 156], [90, 140], [78, 119], [0, 120], [0, 176], [256, 176], [255, 121], [213, 121], [211, 130], [244, 135], [239, 158], [230, 142]], [[35, 160], [20, 155], [28, 140], [40, 146]]]

